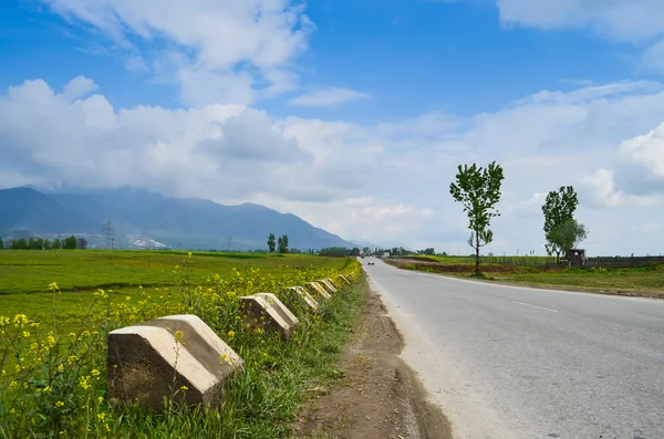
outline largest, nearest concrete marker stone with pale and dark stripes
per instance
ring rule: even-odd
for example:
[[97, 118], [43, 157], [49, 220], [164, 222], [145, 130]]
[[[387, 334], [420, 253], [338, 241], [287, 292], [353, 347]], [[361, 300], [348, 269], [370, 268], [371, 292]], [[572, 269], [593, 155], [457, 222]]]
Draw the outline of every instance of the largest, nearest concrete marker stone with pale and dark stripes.
[[[179, 343], [176, 332], [184, 334]], [[137, 399], [154, 410], [163, 410], [164, 398], [173, 396], [180, 404], [217, 406], [224, 383], [243, 365], [235, 351], [191, 314], [112, 331], [107, 355], [108, 398]]]

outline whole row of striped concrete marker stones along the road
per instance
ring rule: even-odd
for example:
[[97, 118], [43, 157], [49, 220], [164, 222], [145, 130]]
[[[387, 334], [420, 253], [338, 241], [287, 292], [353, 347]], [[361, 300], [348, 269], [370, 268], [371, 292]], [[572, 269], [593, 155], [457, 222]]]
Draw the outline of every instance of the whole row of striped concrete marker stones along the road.
[[[308, 282], [307, 288], [290, 286], [308, 309], [315, 312], [319, 301], [329, 300], [349, 276]], [[249, 325], [289, 338], [299, 325], [298, 317], [271, 293], [240, 297]], [[176, 334], [186, 334], [178, 343]], [[108, 333], [107, 385], [111, 400], [138, 403], [162, 410], [165, 400], [179, 404], [219, 404], [224, 384], [240, 373], [243, 360], [207, 324], [193, 314], [169, 315]]]

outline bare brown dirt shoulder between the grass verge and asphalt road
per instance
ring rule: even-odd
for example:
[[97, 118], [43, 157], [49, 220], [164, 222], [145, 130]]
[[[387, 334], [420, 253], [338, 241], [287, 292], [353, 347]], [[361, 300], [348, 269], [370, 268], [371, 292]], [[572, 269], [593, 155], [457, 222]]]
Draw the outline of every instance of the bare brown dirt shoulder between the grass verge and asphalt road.
[[400, 358], [402, 337], [375, 292], [353, 333], [336, 365], [340, 378], [312, 389], [320, 395], [292, 424], [294, 438], [452, 438], [450, 424]]

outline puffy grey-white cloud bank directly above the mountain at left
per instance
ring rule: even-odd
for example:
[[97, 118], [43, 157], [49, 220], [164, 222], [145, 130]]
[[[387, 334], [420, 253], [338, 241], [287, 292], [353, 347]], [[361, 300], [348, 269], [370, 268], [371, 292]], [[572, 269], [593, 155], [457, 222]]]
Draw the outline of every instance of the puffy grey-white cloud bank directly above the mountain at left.
[[[20, 168], [35, 181], [241, 198], [266, 187], [274, 196], [297, 194], [292, 175], [307, 173], [312, 159], [267, 114], [249, 107], [116, 112], [102, 95], [72, 101], [66, 92], [82, 83], [76, 79], [58, 94], [43, 81], [29, 81], [0, 97], [0, 146], [10, 157], [0, 167]], [[330, 196], [322, 185], [309, 190]]]

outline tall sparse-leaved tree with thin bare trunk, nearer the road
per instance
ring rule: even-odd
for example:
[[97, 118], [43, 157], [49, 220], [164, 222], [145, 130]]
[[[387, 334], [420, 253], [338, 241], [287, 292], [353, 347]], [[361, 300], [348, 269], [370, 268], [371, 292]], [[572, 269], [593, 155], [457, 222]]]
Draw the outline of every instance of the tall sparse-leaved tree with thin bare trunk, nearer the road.
[[500, 216], [496, 205], [500, 201], [504, 179], [502, 167], [491, 161], [486, 168], [459, 165], [456, 182], [449, 185], [449, 194], [468, 215], [468, 244], [475, 250], [475, 274], [479, 274], [479, 249], [494, 240], [489, 227], [491, 219]]

